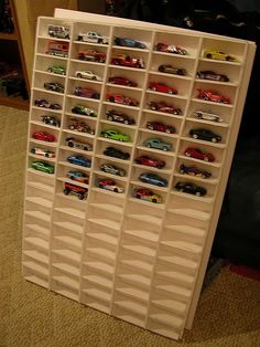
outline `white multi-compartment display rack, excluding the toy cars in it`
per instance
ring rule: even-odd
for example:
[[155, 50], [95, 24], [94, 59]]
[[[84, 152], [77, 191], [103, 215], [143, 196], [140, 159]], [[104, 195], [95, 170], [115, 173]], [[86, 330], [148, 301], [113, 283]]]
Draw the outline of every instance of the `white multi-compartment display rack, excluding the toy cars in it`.
[[[52, 38], [48, 25], [69, 29], [69, 38]], [[108, 43], [78, 41], [79, 33], [97, 32]], [[131, 38], [145, 48], [116, 45], [113, 38]], [[68, 45], [65, 56], [50, 54], [50, 41]], [[178, 45], [186, 54], [156, 51], [158, 43]], [[228, 52], [234, 61], [205, 57], [205, 50]], [[99, 51], [105, 62], [80, 60], [79, 52]], [[54, 17], [39, 18], [30, 124], [24, 200], [23, 276], [47, 290], [80, 304], [127, 320], [169, 338], [178, 339], [191, 328], [214, 239], [228, 172], [236, 146], [256, 45], [253, 42], [213, 35], [152, 23], [57, 9]], [[144, 69], [111, 64], [115, 54], [141, 57]], [[185, 69], [177, 75], [159, 71], [171, 64]], [[62, 66], [65, 74], [48, 72]], [[78, 78], [77, 71], [91, 71], [101, 81]], [[198, 71], [214, 71], [228, 76], [228, 82], [201, 80]], [[116, 85], [111, 76], [123, 76], [137, 86]], [[44, 88], [44, 83], [59, 83], [64, 93]], [[174, 86], [177, 94], [149, 90], [149, 83]], [[90, 87], [99, 98], [74, 94], [76, 87]], [[215, 91], [230, 103], [198, 98], [197, 90]], [[137, 106], [115, 103], [107, 95], [124, 95], [138, 101]], [[35, 99], [58, 104], [61, 109], [35, 106]], [[182, 114], [154, 111], [151, 102], [174, 105]], [[97, 117], [72, 113], [76, 105], [97, 111]], [[106, 113], [116, 109], [129, 115], [134, 124], [108, 120]], [[223, 122], [198, 119], [196, 111], [217, 114]], [[42, 116], [55, 117], [55, 124]], [[72, 129], [71, 118], [86, 122], [95, 134]], [[148, 122], [175, 127], [174, 134], [151, 130]], [[194, 128], [206, 128], [221, 137], [214, 143], [189, 136]], [[119, 141], [101, 136], [117, 129], [130, 137]], [[33, 138], [48, 133], [54, 141]], [[91, 150], [69, 147], [67, 138], [91, 145]], [[145, 147], [150, 138], [172, 145], [170, 150]], [[108, 147], [128, 153], [128, 159], [106, 156]], [[40, 151], [35, 151], [35, 148]], [[214, 155], [214, 161], [187, 156], [187, 148], [199, 148]], [[47, 156], [54, 153], [55, 156]], [[45, 157], [42, 156], [45, 154]], [[69, 162], [68, 157], [84, 157], [90, 167]], [[149, 156], [165, 162], [163, 168], [137, 164]], [[54, 167], [35, 170], [35, 161]], [[126, 171], [116, 176], [100, 170], [104, 164]], [[194, 166], [210, 177], [180, 174], [180, 166]], [[68, 178], [80, 171], [88, 182]], [[143, 172], [167, 180], [166, 187], [142, 182]], [[101, 189], [99, 179], [112, 179], [123, 191]], [[192, 182], [206, 189], [197, 196], [175, 189], [177, 182]], [[85, 188], [87, 198], [65, 194], [65, 183]], [[162, 198], [152, 202], [133, 196], [136, 189], [149, 189]], [[83, 198], [83, 197], [82, 197]]]

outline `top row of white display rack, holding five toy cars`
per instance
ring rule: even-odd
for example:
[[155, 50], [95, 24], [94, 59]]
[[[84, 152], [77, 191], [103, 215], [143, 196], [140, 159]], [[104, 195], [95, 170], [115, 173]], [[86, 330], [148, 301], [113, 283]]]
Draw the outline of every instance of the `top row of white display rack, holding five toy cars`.
[[[151, 51], [159, 54], [177, 54], [183, 57], [196, 57], [215, 62], [240, 65], [246, 54], [246, 43], [223, 39], [198, 38], [177, 32], [151, 31], [144, 29], [110, 27], [97, 23], [52, 20], [42, 18], [39, 27], [40, 38], [80, 42], [95, 45], [123, 46], [124, 50]], [[185, 40], [184, 40], [185, 36]], [[185, 44], [185, 45], [184, 45]], [[198, 49], [199, 48], [199, 49]]]

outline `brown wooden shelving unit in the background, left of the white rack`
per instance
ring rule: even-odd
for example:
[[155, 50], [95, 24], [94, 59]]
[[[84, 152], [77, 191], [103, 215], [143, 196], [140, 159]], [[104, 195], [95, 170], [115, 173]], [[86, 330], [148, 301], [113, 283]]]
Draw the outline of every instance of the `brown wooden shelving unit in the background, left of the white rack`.
[[[19, 25], [17, 21], [15, 7], [12, 0], [9, 0], [12, 22], [14, 25], [14, 31], [11, 33], [0, 32], [0, 48], [1, 48], [1, 60], [4, 60], [8, 63], [14, 63], [21, 70], [22, 76], [24, 78], [28, 93], [30, 91], [26, 66], [24, 61], [24, 54], [22, 49], [21, 36], [19, 32]], [[0, 91], [0, 105], [10, 106], [14, 108], [21, 108], [29, 111], [30, 102], [29, 98], [24, 99], [22, 96], [12, 96], [7, 95], [4, 92]]]

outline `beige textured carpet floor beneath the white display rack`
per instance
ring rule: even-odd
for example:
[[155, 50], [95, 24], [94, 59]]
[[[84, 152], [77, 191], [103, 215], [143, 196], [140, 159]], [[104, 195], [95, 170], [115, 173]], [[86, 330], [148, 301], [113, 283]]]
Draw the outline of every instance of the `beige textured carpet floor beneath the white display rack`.
[[170, 340], [25, 282], [21, 274], [29, 114], [0, 106], [0, 347], [257, 347], [260, 282], [226, 266], [203, 292], [194, 326]]

